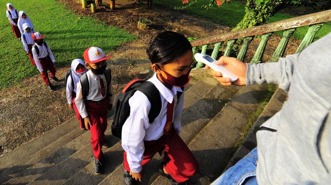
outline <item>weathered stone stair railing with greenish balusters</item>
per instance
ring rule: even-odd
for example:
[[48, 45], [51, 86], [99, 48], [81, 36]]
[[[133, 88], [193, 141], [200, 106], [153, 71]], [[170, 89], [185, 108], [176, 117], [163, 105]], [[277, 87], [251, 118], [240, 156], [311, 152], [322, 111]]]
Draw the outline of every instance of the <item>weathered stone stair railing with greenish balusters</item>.
[[[193, 54], [195, 54], [197, 50], [200, 48], [201, 48], [201, 53], [206, 54], [207, 48], [210, 47], [211, 44], [214, 44], [211, 57], [213, 59], [216, 59], [220, 46], [225, 41], [227, 41], [227, 47], [224, 51], [224, 56], [229, 56], [232, 47], [234, 43], [237, 41], [237, 39], [243, 38], [243, 44], [237, 56], [237, 59], [243, 61], [248, 50], [248, 45], [252, 41], [253, 37], [256, 35], [261, 35], [261, 42], [259, 44], [259, 47], [256, 49], [254, 57], [251, 60], [251, 63], [261, 63], [268, 39], [270, 38], [272, 33], [275, 31], [284, 30], [282, 38], [278, 44], [278, 47], [270, 60], [271, 62], [276, 62], [280, 57], [283, 57], [285, 49], [287, 47], [288, 40], [290, 36], [293, 34], [293, 32], [296, 30], [296, 28], [309, 25], [308, 31], [305, 37], [303, 38], [301, 44], [299, 45], [299, 48], [296, 51], [296, 53], [300, 53], [313, 41], [316, 33], [322, 27], [323, 23], [329, 21], [331, 21], [331, 10], [322, 11], [314, 14], [308, 14], [291, 19], [285, 19], [261, 26], [255, 26], [243, 30], [228, 32], [225, 34], [200, 38], [191, 41], [191, 44], [193, 46]], [[202, 63], [198, 63], [196, 65], [197, 68], [201, 68], [203, 66], [204, 64]]]

